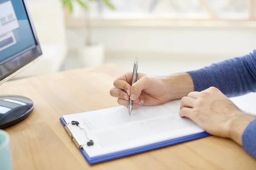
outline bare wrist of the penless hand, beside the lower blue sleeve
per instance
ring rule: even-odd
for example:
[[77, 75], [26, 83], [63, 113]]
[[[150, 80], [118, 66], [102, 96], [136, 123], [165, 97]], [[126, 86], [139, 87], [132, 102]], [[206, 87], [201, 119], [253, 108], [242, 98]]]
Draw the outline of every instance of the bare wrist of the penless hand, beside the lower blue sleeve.
[[242, 136], [244, 130], [255, 119], [254, 116], [246, 113], [237, 114], [229, 120], [228, 138], [232, 139], [236, 143], [242, 145]]

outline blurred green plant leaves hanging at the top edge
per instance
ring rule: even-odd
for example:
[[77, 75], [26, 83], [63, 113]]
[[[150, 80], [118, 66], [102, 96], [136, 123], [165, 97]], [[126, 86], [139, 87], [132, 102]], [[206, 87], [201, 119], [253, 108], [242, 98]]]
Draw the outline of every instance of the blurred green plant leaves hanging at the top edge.
[[[61, 0], [64, 7], [67, 7], [70, 13], [73, 13], [73, 3], [78, 3], [84, 10], [88, 9], [88, 3], [99, 0]], [[102, 0], [108, 8], [114, 10], [115, 7], [110, 0]]]

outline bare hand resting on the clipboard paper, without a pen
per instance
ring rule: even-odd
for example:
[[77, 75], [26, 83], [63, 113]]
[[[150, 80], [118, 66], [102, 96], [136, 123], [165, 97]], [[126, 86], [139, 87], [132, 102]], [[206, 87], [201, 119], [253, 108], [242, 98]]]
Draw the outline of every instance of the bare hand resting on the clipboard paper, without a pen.
[[212, 135], [231, 138], [239, 144], [245, 128], [254, 119], [214, 87], [183, 97], [180, 116], [192, 119]]

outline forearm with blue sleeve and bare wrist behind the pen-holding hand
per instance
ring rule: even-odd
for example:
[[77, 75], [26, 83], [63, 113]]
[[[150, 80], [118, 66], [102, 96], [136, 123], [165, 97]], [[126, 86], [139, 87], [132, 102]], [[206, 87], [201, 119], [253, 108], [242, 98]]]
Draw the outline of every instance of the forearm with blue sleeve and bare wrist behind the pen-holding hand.
[[243, 57], [227, 59], [187, 73], [172, 74], [164, 79], [167, 87], [172, 87], [169, 89], [176, 89], [169, 92], [167, 88], [166, 93], [175, 95], [176, 99], [211, 86], [228, 97], [256, 92], [256, 50]]

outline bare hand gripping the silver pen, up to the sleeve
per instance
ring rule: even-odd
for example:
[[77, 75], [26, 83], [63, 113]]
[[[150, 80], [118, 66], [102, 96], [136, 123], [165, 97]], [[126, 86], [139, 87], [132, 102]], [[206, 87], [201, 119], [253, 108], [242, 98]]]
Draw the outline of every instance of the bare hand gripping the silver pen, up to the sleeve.
[[151, 77], [138, 74], [137, 82], [131, 86], [132, 73], [126, 73], [116, 79], [110, 94], [118, 98], [119, 105], [128, 107], [129, 99], [134, 101], [134, 108], [141, 105], [160, 105], [169, 100], [181, 99], [194, 90], [189, 74], [174, 74], [168, 77]]

